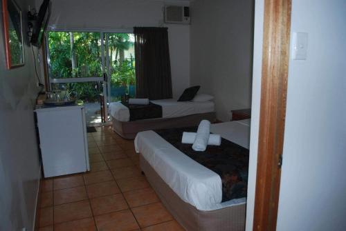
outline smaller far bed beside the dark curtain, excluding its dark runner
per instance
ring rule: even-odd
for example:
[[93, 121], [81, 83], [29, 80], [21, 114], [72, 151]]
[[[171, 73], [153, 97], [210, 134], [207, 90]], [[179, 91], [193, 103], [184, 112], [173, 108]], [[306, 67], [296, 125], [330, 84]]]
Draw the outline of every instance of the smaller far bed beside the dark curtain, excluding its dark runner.
[[145, 130], [193, 126], [198, 125], [202, 119], [215, 121], [215, 103], [212, 101], [160, 99], [150, 102], [161, 106], [161, 118], [130, 121], [127, 106], [120, 102], [110, 103], [108, 111], [113, 123], [113, 130], [125, 139], [134, 139], [138, 132]]

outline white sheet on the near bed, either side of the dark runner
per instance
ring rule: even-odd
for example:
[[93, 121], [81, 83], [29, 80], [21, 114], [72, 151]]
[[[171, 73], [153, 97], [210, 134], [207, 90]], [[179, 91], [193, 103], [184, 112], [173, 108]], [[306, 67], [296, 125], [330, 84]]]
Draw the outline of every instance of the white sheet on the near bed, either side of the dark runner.
[[[232, 121], [212, 124], [210, 130], [248, 148], [249, 125]], [[230, 133], [234, 134], [230, 135]], [[245, 203], [244, 198], [221, 203], [222, 185], [219, 175], [190, 159], [154, 131], [139, 132], [134, 144], [136, 152], [143, 155], [163, 181], [183, 201], [190, 203], [198, 210], [216, 210]]]

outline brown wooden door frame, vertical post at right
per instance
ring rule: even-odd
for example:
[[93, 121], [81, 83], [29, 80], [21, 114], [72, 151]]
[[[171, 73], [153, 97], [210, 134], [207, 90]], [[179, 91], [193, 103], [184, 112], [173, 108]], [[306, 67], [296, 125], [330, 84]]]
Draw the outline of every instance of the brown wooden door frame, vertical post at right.
[[286, 115], [291, 0], [264, 0], [260, 130], [253, 230], [275, 230]]

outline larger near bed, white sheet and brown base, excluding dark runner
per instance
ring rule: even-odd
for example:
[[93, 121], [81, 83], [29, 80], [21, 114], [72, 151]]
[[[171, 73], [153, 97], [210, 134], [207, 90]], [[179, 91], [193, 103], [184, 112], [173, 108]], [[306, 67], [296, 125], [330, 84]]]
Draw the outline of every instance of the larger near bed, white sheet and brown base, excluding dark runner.
[[[210, 132], [248, 149], [250, 120], [212, 124]], [[152, 130], [139, 132], [134, 143], [149, 183], [185, 229], [244, 230], [246, 198], [221, 203], [219, 174]]]

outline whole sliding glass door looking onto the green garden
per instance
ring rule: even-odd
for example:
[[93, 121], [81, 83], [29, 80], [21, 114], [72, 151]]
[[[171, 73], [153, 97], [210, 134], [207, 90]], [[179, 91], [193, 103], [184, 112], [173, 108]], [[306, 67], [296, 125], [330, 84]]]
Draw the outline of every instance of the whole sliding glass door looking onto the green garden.
[[46, 43], [50, 89], [69, 90], [83, 101], [87, 120], [100, 122], [94, 115], [100, 111], [100, 94], [105, 105], [125, 94], [134, 97], [133, 34], [48, 31]]

